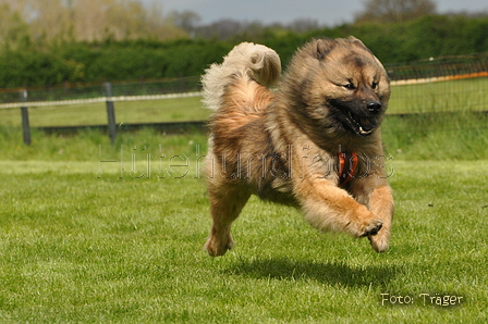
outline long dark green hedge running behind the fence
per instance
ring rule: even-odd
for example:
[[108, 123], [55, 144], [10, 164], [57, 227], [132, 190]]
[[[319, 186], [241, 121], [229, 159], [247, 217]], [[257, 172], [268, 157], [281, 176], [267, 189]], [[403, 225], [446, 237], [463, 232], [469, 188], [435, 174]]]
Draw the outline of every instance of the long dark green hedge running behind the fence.
[[61, 42], [0, 52], [0, 87], [47, 86], [63, 82], [103, 82], [196, 76], [240, 41], [273, 48], [286, 65], [297, 47], [314, 37], [354, 35], [383, 63], [488, 51], [488, 17], [430, 15], [413, 22], [344, 24], [307, 34], [265, 28], [231, 40], [181, 39]]

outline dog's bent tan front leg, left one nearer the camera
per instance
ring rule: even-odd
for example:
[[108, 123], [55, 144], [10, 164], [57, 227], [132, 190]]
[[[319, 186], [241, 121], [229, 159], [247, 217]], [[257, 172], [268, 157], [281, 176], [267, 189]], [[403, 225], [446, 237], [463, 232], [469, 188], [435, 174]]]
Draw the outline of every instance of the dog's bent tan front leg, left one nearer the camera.
[[327, 179], [302, 179], [295, 185], [295, 197], [305, 219], [320, 230], [363, 237], [376, 235], [382, 226], [380, 217]]

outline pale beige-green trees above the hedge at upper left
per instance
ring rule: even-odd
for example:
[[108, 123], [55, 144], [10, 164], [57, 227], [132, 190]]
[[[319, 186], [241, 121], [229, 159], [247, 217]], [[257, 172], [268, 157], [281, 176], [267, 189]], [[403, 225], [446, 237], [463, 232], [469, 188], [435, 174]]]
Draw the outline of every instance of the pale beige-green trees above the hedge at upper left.
[[23, 45], [20, 38], [42, 47], [53, 41], [187, 36], [156, 1], [145, 8], [137, 0], [0, 0], [0, 45], [14, 47]]

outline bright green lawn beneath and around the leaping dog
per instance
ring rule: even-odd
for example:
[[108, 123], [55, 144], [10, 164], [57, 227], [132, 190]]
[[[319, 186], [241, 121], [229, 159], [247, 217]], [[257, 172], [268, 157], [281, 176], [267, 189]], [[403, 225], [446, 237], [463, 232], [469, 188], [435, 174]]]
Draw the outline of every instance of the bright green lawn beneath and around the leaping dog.
[[[387, 128], [403, 134], [410, 124]], [[1, 322], [487, 320], [488, 159], [413, 153], [429, 136], [440, 140], [442, 129], [390, 144], [403, 151], [389, 161], [396, 213], [387, 253], [375, 253], [366, 239], [319, 234], [300, 212], [252, 198], [233, 229], [235, 249], [218, 259], [203, 251], [210, 217], [196, 161], [206, 136], [145, 129], [121, 134], [111, 147], [96, 132], [36, 134], [24, 147], [19, 130], [0, 130]], [[155, 157], [150, 176], [147, 152]], [[171, 169], [182, 164], [170, 157], [183, 154], [188, 166]], [[462, 297], [461, 304], [430, 303], [444, 295]], [[391, 296], [414, 302], [383, 301]]]

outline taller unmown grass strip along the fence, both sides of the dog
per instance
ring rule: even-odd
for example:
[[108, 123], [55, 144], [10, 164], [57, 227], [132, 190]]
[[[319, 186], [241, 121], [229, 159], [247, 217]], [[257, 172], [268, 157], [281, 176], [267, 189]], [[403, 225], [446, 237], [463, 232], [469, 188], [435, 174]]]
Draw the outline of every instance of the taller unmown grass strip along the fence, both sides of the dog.
[[[487, 113], [446, 113], [418, 115], [388, 115], [382, 124], [382, 134], [387, 154], [394, 159], [416, 160], [488, 160]], [[99, 147], [103, 155], [117, 160], [121, 146], [130, 152], [134, 146], [150, 148], [151, 153], [176, 151], [179, 154], [196, 157], [196, 145], [206, 151], [207, 136], [188, 133], [182, 136], [160, 136], [151, 129], [137, 133], [119, 133], [114, 146], [108, 136], [95, 130], [83, 130], [73, 140], [71, 136], [47, 136], [39, 130], [32, 132], [33, 145], [22, 142], [19, 127], [0, 126], [0, 157], [2, 159], [50, 160], [50, 161], [93, 161], [98, 157]], [[159, 146], [163, 140], [160, 151]], [[143, 151], [136, 149], [143, 158]], [[129, 154], [129, 153], [127, 153]], [[129, 154], [126, 159], [130, 160]], [[129, 161], [127, 160], [127, 161]]]

